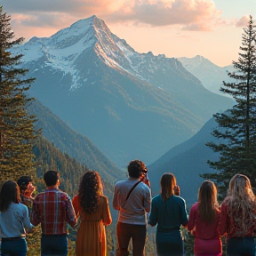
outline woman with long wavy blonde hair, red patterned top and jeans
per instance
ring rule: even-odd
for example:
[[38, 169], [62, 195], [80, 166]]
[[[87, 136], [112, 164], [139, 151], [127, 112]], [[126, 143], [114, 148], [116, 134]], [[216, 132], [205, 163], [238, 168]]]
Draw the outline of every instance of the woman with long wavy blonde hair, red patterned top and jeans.
[[227, 255], [255, 255], [255, 196], [250, 180], [236, 174], [220, 208], [220, 235], [227, 235]]

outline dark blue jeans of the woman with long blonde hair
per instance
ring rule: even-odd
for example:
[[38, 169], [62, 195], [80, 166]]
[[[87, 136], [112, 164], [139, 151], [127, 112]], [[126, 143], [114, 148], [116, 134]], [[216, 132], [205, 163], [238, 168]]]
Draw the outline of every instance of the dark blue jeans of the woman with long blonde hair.
[[254, 256], [255, 243], [254, 237], [231, 237], [227, 239], [228, 256]]

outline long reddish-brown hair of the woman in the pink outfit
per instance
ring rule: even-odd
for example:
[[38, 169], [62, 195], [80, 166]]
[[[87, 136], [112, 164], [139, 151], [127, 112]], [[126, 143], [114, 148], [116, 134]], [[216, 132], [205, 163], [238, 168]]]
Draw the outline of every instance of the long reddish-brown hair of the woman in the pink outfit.
[[210, 180], [205, 180], [198, 191], [198, 211], [200, 219], [210, 224], [215, 218], [215, 214], [219, 212], [219, 204], [217, 202], [217, 188]]

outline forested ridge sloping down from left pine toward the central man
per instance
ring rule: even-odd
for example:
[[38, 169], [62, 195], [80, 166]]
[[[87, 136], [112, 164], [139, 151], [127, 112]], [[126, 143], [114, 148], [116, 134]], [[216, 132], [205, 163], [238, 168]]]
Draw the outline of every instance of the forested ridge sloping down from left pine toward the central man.
[[[102, 179], [107, 180], [112, 185], [116, 180], [125, 177], [124, 171], [111, 162], [99, 148], [92, 144], [91, 140], [70, 129], [68, 124], [61, 121], [58, 116], [55, 116], [49, 108], [44, 107], [38, 100], [35, 100], [28, 110], [31, 114], [36, 115], [38, 120], [36, 129], [42, 129], [42, 135], [46, 139], [44, 144], [52, 143], [53, 148], [59, 148], [60, 152], [75, 158], [78, 163], [83, 164], [87, 169], [100, 172]], [[68, 170], [61, 171], [67, 172]], [[45, 172], [45, 170], [42, 172]]]

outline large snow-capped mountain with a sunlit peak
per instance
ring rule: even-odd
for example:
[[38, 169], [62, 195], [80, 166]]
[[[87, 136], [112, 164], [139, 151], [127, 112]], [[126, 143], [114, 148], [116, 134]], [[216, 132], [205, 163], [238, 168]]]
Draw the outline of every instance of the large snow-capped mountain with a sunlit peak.
[[153, 163], [233, 104], [179, 60], [135, 52], [96, 16], [12, 51], [36, 77], [30, 95], [119, 167]]

